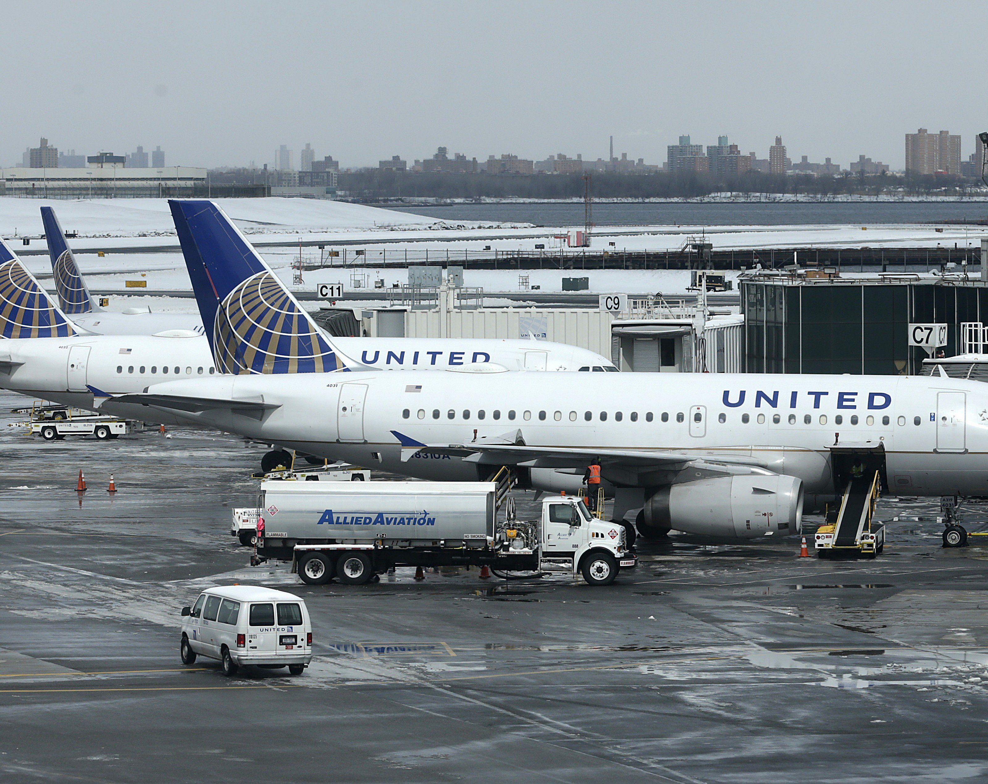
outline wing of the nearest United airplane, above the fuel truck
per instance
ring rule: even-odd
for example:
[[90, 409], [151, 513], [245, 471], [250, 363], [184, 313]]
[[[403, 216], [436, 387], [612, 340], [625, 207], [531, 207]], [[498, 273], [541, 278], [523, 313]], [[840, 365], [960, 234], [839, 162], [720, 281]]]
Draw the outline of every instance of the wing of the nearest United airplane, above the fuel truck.
[[[748, 455], [690, 454], [659, 449], [615, 449], [571, 446], [529, 446], [521, 431], [494, 439], [459, 444], [422, 443], [398, 431], [391, 433], [401, 443], [401, 460], [409, 460], [423, 449], [434, 454], [448, 454], [466, 462], [482, 465], [518, 465], [526, 468], [576, 468], [583, 470], [595, 459], [602, 466], [631, 471], [681, 471], [701, 468], [722, 473], [750, 473], [764, 464]], [[740, 469], [740, 470], [739, 470]]]

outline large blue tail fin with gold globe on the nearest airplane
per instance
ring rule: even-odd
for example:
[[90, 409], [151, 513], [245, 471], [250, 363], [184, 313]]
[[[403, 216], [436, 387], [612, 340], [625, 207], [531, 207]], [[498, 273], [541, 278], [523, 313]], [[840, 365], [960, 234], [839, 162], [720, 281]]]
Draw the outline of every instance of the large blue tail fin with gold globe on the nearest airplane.
[[216, 368], [223, 373], [346, 369], [336, 350], [212, 201], [169, 199]]

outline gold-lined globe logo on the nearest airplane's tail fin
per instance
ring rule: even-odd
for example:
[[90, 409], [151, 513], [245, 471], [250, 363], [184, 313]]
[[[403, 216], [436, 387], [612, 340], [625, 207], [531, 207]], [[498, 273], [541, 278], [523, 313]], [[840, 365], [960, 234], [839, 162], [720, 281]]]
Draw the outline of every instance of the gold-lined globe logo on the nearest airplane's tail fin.
[[216, 309], [213, 353], [222, 373], [325, 373], [332, 347], [269, 271], [248, 277]]

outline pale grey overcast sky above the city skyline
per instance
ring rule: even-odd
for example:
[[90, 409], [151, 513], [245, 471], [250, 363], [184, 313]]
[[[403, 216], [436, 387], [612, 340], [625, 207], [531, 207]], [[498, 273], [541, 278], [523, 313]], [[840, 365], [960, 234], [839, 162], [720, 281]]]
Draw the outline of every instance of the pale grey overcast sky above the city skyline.
[[167, 163], [342, 166], [444, 145], [661, 163], [681, 133], [767, 157], [864, 153], [988, 128], [983, 2], [0, 0], [0, 164], [160, 144]]

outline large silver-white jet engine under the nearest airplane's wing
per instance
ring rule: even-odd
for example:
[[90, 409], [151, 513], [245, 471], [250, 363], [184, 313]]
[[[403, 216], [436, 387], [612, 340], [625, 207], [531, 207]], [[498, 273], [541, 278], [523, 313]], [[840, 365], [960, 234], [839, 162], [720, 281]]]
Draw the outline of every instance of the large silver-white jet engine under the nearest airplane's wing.
[[638, 529], [655, 537], [670, 529], [701, 536], [754, 539], [788, 536], [802, 524], [803, 488], [797, 477], [725, 476], [670, 485], [645, 502]]

